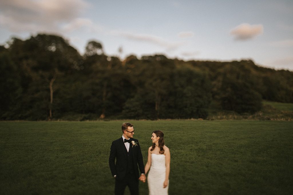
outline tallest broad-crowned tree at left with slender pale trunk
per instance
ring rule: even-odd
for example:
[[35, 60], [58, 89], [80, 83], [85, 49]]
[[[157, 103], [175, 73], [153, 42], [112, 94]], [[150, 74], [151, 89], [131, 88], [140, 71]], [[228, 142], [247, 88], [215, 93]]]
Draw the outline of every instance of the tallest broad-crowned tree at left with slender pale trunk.
[[[36, 87], [28, 99], [40, 98], [48, 111], [48, 119], [52, 119], [54, 82], [58, 76], [71, 73], [79, 69], [81, 57], [62, 37], [55, 35], [38, 34], [25, 41], [13, 39], [8, 49], [15, 63], [21, 66], [28, 78], [28, 86]], [[34, 83], [38, 82], [36, 85]], [[42, 87], [47, 85], [47, 87]], [[49, 89], [48, 98], [42, 96], [45, 89]], [[31, 94], [34, 93], [34, 94]], [[40, 99], [38, 102], [40, 102]], [[34, 103], [29, 101], [28, 103]], [[46, 105], [46, 106], [45, 106]], [[30, 109], [30, 108], [28, 108]]]

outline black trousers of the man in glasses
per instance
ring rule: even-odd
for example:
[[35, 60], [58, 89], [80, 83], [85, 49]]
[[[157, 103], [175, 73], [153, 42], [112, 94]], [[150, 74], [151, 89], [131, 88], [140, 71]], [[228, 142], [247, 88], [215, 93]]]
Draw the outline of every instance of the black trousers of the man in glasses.
[[115, 195], [123, 195], [126, 186], [131, 195], [138, 195], [139, 180], [134, 173], [128, 173], [124, 178], [115, 179]]

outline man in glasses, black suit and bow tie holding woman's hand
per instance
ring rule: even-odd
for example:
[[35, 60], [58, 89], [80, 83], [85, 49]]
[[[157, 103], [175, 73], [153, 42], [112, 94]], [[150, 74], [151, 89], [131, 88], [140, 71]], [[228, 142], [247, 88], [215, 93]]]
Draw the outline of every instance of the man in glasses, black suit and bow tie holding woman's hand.
[[122, 124], [122, 133], [122, 137], [112, 142], [109, 157], [110, 170], [115, 177], [115, 194], [124, 194], [128, 186], [130, 193], [135, 195], [138, 194], [139, 180], [146, 180], [142, 152], [138, 140], [133, 139], [134, 129], [131, 123]]

